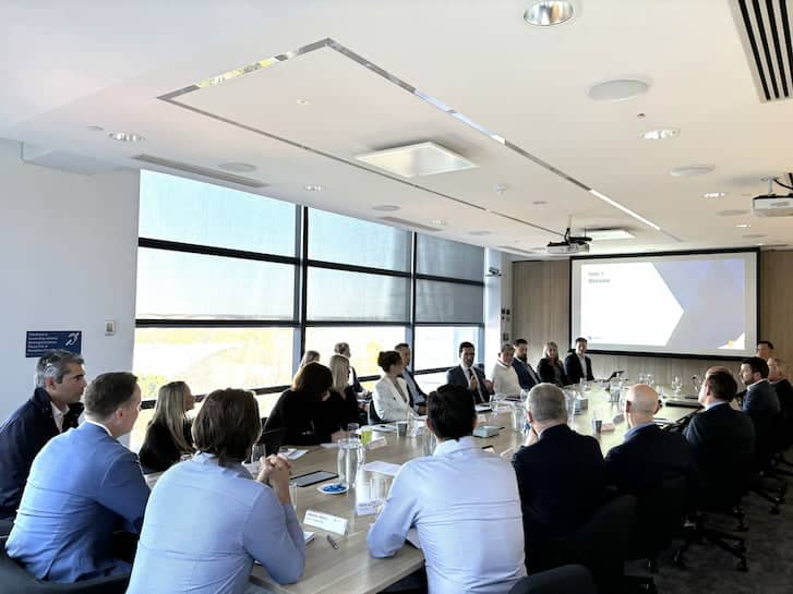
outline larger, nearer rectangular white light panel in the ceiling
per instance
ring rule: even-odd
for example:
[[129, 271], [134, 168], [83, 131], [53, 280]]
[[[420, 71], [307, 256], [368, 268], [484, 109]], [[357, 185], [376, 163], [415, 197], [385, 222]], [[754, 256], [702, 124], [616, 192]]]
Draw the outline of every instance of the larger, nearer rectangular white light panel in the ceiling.
[[402, 178], [434, 175], [477, 167], [474, 163], [435, 143], [397, 146], [358, 155], [356, 159]]

